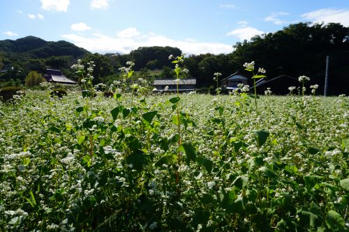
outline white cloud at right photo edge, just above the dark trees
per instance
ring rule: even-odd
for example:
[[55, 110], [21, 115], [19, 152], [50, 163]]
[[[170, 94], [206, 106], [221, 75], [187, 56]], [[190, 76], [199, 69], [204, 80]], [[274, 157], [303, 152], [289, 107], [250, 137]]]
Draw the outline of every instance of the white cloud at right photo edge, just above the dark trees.
[[329, 22], [337, 22], [343, 26], [349, 26], [349, 10], [344, 9], [324, 8], [304, 13], [302, 17], [313, 23], [325, 22], [325, 24], [328, 24]]

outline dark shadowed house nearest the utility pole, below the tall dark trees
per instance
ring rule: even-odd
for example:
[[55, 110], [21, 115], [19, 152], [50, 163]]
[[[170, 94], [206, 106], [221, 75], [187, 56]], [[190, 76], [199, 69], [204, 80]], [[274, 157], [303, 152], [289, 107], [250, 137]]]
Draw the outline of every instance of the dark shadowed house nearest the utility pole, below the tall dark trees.
[[[280, 75], [272, 79], [263, 78], [255, 83], [258, 94], [264, 94], [267, 88], [271, 88], [273, 94], [287, 95], [290, 93], [288, 89], [290, 86], [299, 87], [300, 85], [296, 77], [291, 77], [289, 75]], [[251, 88], [253, 88], [253, 86]]]

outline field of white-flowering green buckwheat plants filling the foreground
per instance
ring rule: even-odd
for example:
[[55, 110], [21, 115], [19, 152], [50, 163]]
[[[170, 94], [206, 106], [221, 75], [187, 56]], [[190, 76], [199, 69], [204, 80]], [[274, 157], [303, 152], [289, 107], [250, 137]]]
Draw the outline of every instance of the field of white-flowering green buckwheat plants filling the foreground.
[[348, 231], [348, 97], [257, 102], [1, 102], [0, 231]]

